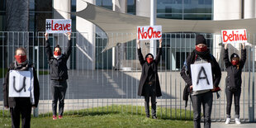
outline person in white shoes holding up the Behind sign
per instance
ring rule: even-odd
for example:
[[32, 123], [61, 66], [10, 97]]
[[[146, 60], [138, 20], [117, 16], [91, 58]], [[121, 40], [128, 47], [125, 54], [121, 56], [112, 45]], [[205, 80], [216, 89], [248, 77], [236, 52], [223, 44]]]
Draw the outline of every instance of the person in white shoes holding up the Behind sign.
[[[235, 97], [235, 123], [241, 124], [239, 121], [239, 100], [241, 95], [241, 83], [242, 83], [242, 69], [246, 61], [246, 49], [244, 43], [242, 44], [243, 50], [241, 50], [241, 59], [239, 55], [233, 53], [229, 59], [229, 52], [227, 44], [225, 44], [224, 61], [227, 76], [225, 78], [225, 94], [226, 94], [226, 121], [225, 124], [230, 123], [230, 109], [232, 105], [232, 97]], [[231, 62], [230, 62], [231, 60]]]

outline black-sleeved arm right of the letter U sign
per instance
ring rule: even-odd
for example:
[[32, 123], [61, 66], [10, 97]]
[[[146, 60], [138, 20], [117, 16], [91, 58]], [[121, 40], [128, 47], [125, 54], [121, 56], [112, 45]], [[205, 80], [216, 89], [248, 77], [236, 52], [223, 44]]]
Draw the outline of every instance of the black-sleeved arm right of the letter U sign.
[[32, 107], [37, 107], [40, 97], [40, 88], [39, 88], [39, 82], [36, 75], [36, 69], [33, 68], [33, 75], [34, 75], [34, 98], [35, 98], [35, 104], [32, 104]]

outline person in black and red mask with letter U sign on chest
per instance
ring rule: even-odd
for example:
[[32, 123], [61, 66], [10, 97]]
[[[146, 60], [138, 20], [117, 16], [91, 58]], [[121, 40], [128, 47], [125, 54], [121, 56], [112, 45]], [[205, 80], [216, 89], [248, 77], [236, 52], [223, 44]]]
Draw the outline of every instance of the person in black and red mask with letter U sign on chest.
[[[29, 78], [31, 79], [27, 79], [21, 72], [30, 73]], [[20, 77], [22, 77], [23, 81], [20, 80]], [[33, 83], [29, 88], [26, 86], [27, 81]], [[18, 88], [20, 85], [22, 85], [22, 87]], [[21, 120], [22, 128], [29, 128], [31, 126], [31, 107], [36, 108], [38, 106], [40, 91], [36, 69], [33, 67], [33, 64], [30, 64], [26, 59], [26, 50], [24, 48], [20, 47], [15, 51], [15, 60], [7, 69], [2, 89], [4, 107], [10, 107], [12, 127], [20, 127]], [[14, 93], [12, 92], [13, 90], [15, 90], [15, 93], [19, 94], [23, 91], [29, 91], [30, 97], [27, 95], [22, 97], [13, 96], [13, 94], [11, 94]]]

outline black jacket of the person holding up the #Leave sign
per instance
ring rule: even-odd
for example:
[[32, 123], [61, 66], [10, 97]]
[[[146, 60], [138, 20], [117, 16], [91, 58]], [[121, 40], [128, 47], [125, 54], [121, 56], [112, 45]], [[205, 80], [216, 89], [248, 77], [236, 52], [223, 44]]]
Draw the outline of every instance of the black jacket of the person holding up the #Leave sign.
[[66, 80], [68, 76], [67, 61], [71, 54], [71, 40], [68, 42], [67, 49], [61, 58], [55, 59], [52, 50], [50, 49], [50, 42], [46, 40], [45, 52], [48, 57], [48, 63], [50, 64], [50, 79], [52, 80]]

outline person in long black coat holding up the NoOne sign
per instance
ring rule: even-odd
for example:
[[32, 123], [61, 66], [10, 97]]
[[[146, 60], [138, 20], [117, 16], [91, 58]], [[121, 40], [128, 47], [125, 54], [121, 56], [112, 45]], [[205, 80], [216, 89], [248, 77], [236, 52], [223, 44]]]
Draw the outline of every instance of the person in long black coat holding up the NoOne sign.
[[157, 119], [156, 97], [162, 96], [158, 75], [158, 64], [162, 54], [162, 39], [159, 40], [159, 50], [155, 59], [152, 54], [145, 55], [144, 59], [140, 49], [140, 40], [137, 40], [137, 45], [138, 57], [142, 67], [138, 95], [145, 97], [145, 112], [147, 117], [149, 117], [149, 97], [151, 97], [152, 118]]

